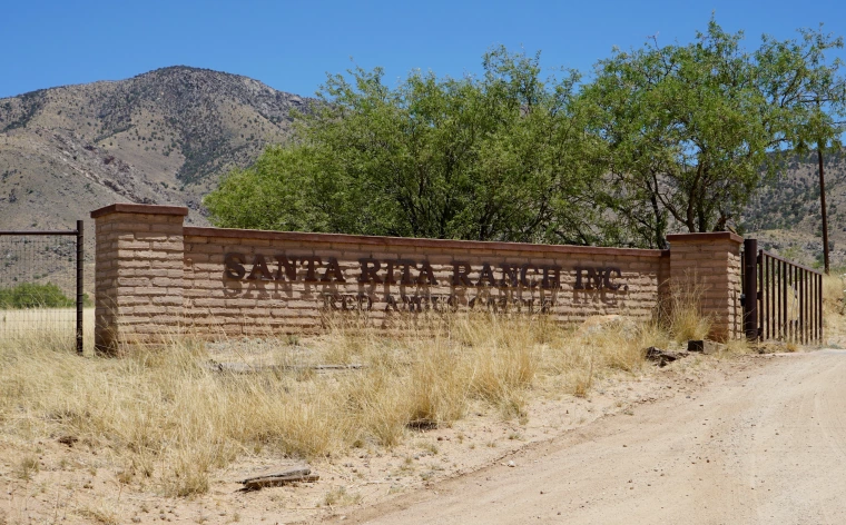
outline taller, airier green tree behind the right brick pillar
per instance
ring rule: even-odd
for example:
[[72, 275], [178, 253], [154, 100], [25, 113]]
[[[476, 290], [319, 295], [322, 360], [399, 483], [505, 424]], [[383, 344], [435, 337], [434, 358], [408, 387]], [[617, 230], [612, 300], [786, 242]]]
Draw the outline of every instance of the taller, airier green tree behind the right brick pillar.
[[[608, 145], [606, 205], [641, 242], [666, 234], [726, 229], [781, 155], [839, 131], [811, 102], [839, 93], [825, 50], [839, 40], [764, 38], [749, 52], [742, 32], [711, 19], [692, 43], [616, 51], [582, 91], [594, 132]], [[839, 95], [835, 97], [843, 100]]]

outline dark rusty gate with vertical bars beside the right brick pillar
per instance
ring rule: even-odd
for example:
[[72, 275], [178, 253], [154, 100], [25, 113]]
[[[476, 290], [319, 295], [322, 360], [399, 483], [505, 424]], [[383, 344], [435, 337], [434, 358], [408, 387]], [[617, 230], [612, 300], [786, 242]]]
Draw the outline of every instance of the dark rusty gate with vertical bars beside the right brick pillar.
[[823, 274], [744, 240], [744, 331], [750, 340], [823, 340]]

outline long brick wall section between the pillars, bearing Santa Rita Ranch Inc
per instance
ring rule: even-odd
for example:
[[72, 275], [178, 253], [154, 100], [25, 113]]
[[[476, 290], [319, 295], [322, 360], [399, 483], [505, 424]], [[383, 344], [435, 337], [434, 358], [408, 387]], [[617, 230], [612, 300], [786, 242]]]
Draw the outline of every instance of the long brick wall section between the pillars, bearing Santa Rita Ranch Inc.
[[[544, 309], [562, 323], [613, 313], [646, 318], [652, 314], [661, 283], [669, 277], [669, 260], [667, 254], [660, 250], [191, 227], [186, 227], [184, 231], [184, 315], [187, 325], [195, 327], [198, 334], [232, 336], [318, 330], [326, 310], [358, 309], [360, 297], [361, 308], [367, 310], [368, 319], [377, 326], [385, 326], [392, 319], [419, 310], [441, 310], [453, 306], [512, 313]], [[227, 278], [224, 275], [226, 254], [242, 256], [243, 278]], [[282, 271], [279, 269], [279, 261], [275, 259], [278, 255], [298, 261], [319, 258], [321, 265], [315, 264], [314, 277], [317, 281], [307, 281], [308, 268], [302, 262], [297, 264], [296, 277], [292, 281], [285, 275], [284, 267]], [[272, 279], [260, 276], [260, 271], [255, 274], [255, 279], [248, 279], [257, 256], [267, 262]], [[329, 276], [331, 283], [319, 280], [326, 273], [329, 258], [337, 259], [345, 283], [337, 281], [334, 276]], [[376, 276], [383, 283], [358, 280], [362, 275], [361, 259], [380, 261]], [[409, 273], [414, 283], [402, 284], [405, 267], [396, 264], [402, 260], [412, 262]], [[385, 283], [388, 261], [394, 261], [394, 284]], [[470, 266], [472, 286], [464, 286], [463, 283], [453, 286], [453, 262], [456, 261]], [[424, 262], [431, 265], [436, 285], [429, 283], [427, 275], [424, 276], [424, 284], [416, 283]], [[484, 286], [476, 286], [484, 262], [491, 266], [496, 286], [490, 286], [490, 276], [483, 280]], [[512, 279], [503, 276], [503, 265], [518, 267], [514, 275], [518, 286], [511, 286]], [[531, 265], [525, 275], [529, 286], [520, 285], [523, 265]], [[561, 268], [560, 288], [543, 288], [543, 266]], [[577, 267], [586, 268], [581, 276], [582, 289], [576, 288]], [[588, 268], [594, 274], [607, 268], [613, 271], [608, 283], [602, 279], [601, 287], [591, 283], [592, 289], [588, 289]], [[501, 286], [503, 278], [508, 281], [506, 286]]]

